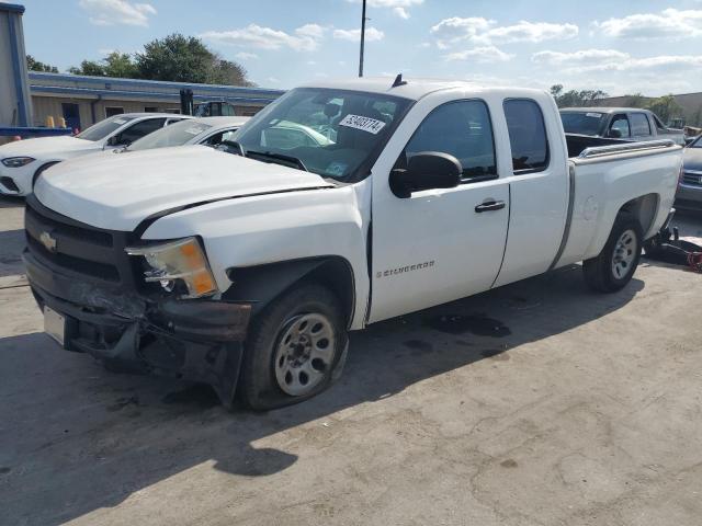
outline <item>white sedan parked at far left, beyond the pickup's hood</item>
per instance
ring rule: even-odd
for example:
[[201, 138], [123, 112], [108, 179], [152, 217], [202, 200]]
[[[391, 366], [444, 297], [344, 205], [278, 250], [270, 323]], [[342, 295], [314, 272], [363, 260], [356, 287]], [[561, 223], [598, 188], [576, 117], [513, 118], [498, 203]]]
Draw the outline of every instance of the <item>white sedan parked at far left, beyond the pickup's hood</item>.
[[0, 146], [0, 194], [32, 193], [39, 174], [57, 162], [99, 150], [124, 148], [185, 115], [125, 113], [100, 121], [76, 136], [42, 137]]

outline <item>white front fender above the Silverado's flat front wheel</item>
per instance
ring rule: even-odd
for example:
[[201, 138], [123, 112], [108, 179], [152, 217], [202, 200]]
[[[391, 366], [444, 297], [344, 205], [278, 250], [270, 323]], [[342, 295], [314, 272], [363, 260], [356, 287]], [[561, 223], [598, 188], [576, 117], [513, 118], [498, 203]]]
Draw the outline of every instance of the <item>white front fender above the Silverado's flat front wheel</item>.
[[222, 291], [231, 285], [227, 268], [319, 255], [343, 258], [355, 285], [351, 329], [361, 329], [369, 298], [367, 221], [362, 217], [367, 209], [364, 202], [370, 201], [366, 186], [370, 180], [354, 186], [220, 201], [158, 219], [143, 238], [201, 236]]

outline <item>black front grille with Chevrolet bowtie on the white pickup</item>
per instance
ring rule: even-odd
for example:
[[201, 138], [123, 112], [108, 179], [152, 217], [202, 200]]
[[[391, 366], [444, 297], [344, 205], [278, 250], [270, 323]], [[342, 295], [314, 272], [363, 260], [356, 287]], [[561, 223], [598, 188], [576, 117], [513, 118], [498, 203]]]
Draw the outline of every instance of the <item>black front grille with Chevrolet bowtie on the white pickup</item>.
[[27, 250], [45, 266], [80, 281], [133, 284], [127, 232], [83, 225], [44, 207], [33, 195], [24, 215]]

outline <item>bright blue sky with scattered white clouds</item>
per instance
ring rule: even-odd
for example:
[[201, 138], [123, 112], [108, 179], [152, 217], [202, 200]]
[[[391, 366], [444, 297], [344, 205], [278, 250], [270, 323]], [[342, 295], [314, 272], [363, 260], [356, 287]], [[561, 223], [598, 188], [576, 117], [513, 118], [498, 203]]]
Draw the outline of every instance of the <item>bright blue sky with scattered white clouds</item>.
[[[263, 88], [358, 75], [361, 0], [14, 0], [30, 55], [64, 71], [173, 32]], [[365, 76], [702, 91], [702, 0], [367, 0]]]

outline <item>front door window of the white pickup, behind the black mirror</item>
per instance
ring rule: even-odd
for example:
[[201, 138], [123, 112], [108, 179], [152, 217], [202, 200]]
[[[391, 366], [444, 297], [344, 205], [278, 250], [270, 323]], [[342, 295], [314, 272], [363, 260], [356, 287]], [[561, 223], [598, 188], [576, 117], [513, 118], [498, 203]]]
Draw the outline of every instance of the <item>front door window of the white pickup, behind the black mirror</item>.
[[497, 178], [492, 125], [483, 101], [443, 104], [419, 125], [405, 148], [407, 158], [440, 151], [461, 161], [466, 181]]

